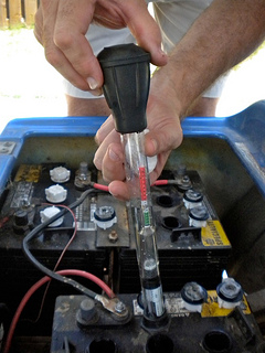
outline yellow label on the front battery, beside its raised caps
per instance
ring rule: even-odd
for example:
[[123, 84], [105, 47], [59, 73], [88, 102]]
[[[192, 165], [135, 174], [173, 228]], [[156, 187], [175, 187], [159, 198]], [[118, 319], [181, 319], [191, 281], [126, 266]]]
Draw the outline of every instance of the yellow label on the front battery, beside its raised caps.
[[[251, 309], [248, 307], [248, 303], [243, 297], [243, 300], [241, 302], [241, 308], [243, 309], [243, 312], [245, 314], [251, 313]], [[226, 317], [230, 314], [234, 309], [224, 309], [220, 308], [218, 303], [218, 293], [215, 290], [209, 290], [208, 291], [208, 301], [202, 304], [202, 311], [201, 315], [202, 318], [212, 318], [212, 317]]]

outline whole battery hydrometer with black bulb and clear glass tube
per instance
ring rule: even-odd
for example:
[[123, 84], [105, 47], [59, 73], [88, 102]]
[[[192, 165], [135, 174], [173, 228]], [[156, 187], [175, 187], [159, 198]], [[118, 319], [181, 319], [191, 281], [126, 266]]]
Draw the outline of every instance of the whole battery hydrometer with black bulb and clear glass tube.
[[159, 330], [168, 324], [168, 314], [159, 274], [156, 226], [145, 156], [150, 54], [135, 44], [123, 44], [105, 47], [98, 54], [98, 61], [104, 73], [103, 92], [125, 151], [126, 180], [130, 191], [129, 222], [136, 236], [141, 281], [142, 325]]

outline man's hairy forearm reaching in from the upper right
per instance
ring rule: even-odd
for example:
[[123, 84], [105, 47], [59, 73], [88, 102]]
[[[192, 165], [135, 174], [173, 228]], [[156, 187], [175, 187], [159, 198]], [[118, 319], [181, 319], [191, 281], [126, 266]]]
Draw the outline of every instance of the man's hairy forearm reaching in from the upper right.
[[160, 82], [160, 89], [174, 90], [178, 115], [186, 116], [193, 101], [248, 56], [264, 36], [265, 0], [215, 0], [153, 78]]

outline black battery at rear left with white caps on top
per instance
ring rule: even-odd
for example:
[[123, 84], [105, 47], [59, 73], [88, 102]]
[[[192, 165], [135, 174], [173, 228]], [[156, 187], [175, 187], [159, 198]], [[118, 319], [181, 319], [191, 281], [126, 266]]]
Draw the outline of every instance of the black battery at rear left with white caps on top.
[[[51, 206], [47, 205], [45, 197], [45, 189], [54, 184], [51, 181], [50, 171], [62, 165], [65, 168], [64, 163], [21, 164], [1, 205], [1, 220], [6, 220], [6, 222], [0, 227], [0, 281], [3, 284], [0, 291], [0, 302], [7, 303], [11, 312], [15, 310], [29, 288], [44, 276], [24, 256], [22, 242], [24, 236], [41, 223], [40, 213]], [[64, 205], [73, 203], [81, 195], [81, 192], [74, 186], [73, 170], [71, 170], [71, 174], [70, 180], [62, 184], [67, 190]], [[96, 195], [94, 196], [96, 197]], [[85, 270], [103, 279], [108, 265], [108, 254], [104, 248], [96, 248], [97, 231], [91, 216], [95, 200], [93, 201], [93, 197], [86, 199], [82, 205], [74, 210], [77, 234], [57, 269]], [[60, 205], [55, 206], [60, 207]], [[73, 216], [70, 213], [65, 214], [62, 225], [45, 228], [30, 242], [31, 253], [42, 265], [53, 269], [73, 236], [74, 228]], [[80, 279], [80, 281], [85, 282], [84, 279]], [[87, 284], [86, 280], [87, 285], [98, 291], [98, 287], [93, 282]], [[62, 292], [65, 295], [76, 293], [75, 290], [62, 284], [52, 284], [49, 290], [49, 300], [46, 300], [46, 310], [42, 315], [44, 321], [34, 324], [34, 330], [38, 330], [39, 327], [38, 334], [50, 333], [47, 322], [51, 328], [54, 301]], [[43, 291], [35, 295], [35, 300], [25, 310], [26, 317], [35, 318], [40, 310], [42, 296]], [[23, 334], [32, 332], [32, 324], [30, 329], [28, 321], [23, 323], [21, 328]]]

